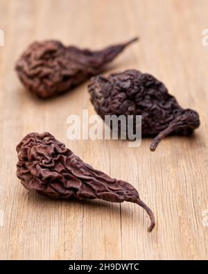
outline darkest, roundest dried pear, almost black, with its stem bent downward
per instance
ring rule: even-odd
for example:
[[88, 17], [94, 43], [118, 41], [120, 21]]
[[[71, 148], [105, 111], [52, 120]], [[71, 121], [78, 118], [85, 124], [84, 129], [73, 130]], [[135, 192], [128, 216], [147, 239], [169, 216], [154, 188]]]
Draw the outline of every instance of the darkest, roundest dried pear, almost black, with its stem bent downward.
[[[155, 137], [150, 150], [170, 134], [189, 135], [200, 126], [198, 113], [183, 109], [165, 85], [150, 74], [127, 70], [108, 78], [92, 77], [88, 90], [96, 112], [105, 115], [141, 115], [141, 136]], [[133, 123], [135, 130], [135, 121]]]

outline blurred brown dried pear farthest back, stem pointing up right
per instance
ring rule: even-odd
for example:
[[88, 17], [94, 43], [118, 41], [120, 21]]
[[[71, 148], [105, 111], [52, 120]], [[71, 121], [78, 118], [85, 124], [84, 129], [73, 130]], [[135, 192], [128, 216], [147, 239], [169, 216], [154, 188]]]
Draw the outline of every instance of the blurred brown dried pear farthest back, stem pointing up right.
[[56, 40], [33, 42], [22, 53], [15, 69], [28, 90], [47, 98], [67, 92], [90, 76], [101, 73], [107, 63], [136, 40], [108, 46], [101, 51], [64, 46]]

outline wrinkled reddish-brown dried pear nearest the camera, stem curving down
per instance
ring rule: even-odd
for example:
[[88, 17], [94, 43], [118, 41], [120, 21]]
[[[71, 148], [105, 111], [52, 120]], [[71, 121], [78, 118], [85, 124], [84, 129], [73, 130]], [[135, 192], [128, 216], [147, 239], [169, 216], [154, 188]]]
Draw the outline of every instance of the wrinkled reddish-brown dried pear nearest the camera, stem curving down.
[[17, 155], [17, 177], [26, 189], [35, 189], [52, 198], [98, 198], [112, 203], [136, 203], [150, 216], [148, 231], [153, 230], [153, 212], [140, 200], [132, 185], [112, 179], [86, 164], [50, 133], [26, 135], [17, 145]]

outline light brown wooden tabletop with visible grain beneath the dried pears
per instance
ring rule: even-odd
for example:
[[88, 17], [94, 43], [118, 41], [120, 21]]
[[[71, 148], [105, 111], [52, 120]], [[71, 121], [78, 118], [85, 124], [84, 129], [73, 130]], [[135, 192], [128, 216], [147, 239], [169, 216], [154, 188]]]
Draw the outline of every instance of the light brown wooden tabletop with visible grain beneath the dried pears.
[[[0, 227], [1, 259], [208, 259], [208, 1], [0, 1]], [[140, 69], [162, 80], [184, 108], [200, 113], [193, 137], [168, 137], [150, 152], [120, 140], [70, 141], [67, 117], [94, 108], [87, 83], [58, 98], [31, 96], [14, 71], [33, 40], [100, 49], [139, 35], [139, 43], [109, 70]], [[53, 201], [30, 193], [17, 179], [15, 147], [28, 132], [49, 131], [85, 162], [134, 185], [153, 209], [130, 203]], [[208, 223], [208, 222], [207, 222]]]

